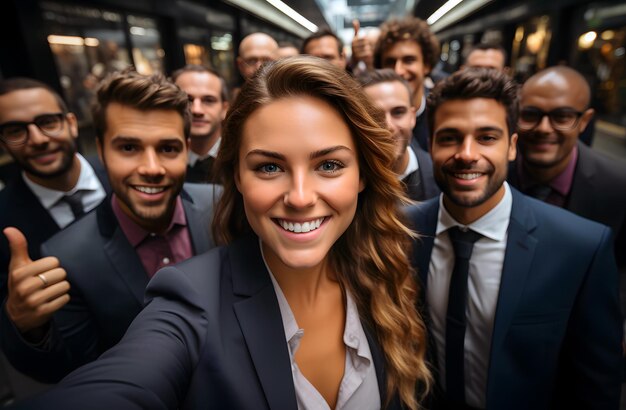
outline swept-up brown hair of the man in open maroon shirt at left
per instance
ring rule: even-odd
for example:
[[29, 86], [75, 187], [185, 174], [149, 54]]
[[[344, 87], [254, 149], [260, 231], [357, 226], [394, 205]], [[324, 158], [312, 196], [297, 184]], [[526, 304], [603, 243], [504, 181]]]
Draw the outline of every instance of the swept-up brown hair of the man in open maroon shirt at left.
[[106, 111], [111, 103], [127, 105], [141, 111], [173, 110], [183, 119], [185, 138], [191, 129], [191, 112], [187, 94], [162, 74], [142, 75], [125, 70], [109, 74], [102, 80], [92, 106], [96, 136], [102, 142], [106, 132]]

